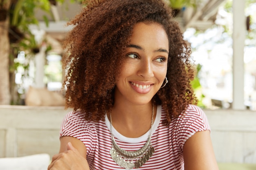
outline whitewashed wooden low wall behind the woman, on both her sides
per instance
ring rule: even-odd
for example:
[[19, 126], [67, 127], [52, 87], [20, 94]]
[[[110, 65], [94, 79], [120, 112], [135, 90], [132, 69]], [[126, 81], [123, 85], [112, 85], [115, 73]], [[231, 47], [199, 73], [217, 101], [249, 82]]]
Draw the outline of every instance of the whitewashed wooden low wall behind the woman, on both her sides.
[[[0, 157], [38, 153], [54, 155], [59, 149], [63, 107], [0, 106]], [[256, 163], [256, 112], [204, 110], [218, 162]]]

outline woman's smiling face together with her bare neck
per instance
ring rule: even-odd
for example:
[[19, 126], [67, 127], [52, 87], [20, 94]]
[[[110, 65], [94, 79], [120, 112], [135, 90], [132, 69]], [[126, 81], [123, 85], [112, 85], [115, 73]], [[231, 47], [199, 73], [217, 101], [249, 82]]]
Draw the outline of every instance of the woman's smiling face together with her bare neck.
[[113, 126], [122, 135], [139, 137], [150, 129], [151, 100], [166, 76], [168, 38], [161, 25], [139, 22], [128, 46], [111, 114]]

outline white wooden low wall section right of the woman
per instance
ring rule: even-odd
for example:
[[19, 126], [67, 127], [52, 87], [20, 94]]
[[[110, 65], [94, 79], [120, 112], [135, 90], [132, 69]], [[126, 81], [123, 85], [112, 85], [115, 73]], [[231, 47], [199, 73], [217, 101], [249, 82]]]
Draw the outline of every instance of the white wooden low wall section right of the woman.
[[256, 163], [256, 111], [204, 111], [217, 161]]

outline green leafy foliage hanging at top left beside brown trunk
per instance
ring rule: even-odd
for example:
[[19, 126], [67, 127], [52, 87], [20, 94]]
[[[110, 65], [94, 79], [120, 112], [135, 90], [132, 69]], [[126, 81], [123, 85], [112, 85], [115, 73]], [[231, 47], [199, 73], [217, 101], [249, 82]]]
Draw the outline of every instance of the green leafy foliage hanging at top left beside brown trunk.
[[[56, 2], [63, 3], [64, 0], [56, 0]], [[38, 25], [35, 9], [41, 9], [52, 16], [49, 0], [17, 0], [11, 5], [9, 9], [11, 34], [18, 39], [11, 42], [11, 48], [18, 48], [18, 51], [26, 51], [31, 54], [38, 51], [40, 44], [36, 43], [34, 35], [29, 30], [29, 25]], [[44, 15], [43, 19], [48, 26], [47, 16]]]

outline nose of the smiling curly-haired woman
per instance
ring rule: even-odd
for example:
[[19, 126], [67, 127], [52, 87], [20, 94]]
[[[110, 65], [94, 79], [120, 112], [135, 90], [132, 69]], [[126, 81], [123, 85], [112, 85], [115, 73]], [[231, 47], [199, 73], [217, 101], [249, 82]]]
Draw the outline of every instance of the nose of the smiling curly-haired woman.
[[141, 60], [141, 63], [139, 64], [138, 75], [144, 77], [145, 79], [154, 77], [152, 61]]

